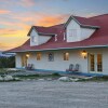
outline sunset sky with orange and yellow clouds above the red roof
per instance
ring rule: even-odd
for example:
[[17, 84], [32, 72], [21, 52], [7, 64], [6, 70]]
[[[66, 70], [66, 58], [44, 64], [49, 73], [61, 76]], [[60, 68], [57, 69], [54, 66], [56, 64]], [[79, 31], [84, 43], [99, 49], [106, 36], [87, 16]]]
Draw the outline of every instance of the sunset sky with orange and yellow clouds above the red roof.
[[0, 0], [0, 51], [22, 45], [31, 26], [65, 23], [70, 15], [108, 13], [108, 0]]

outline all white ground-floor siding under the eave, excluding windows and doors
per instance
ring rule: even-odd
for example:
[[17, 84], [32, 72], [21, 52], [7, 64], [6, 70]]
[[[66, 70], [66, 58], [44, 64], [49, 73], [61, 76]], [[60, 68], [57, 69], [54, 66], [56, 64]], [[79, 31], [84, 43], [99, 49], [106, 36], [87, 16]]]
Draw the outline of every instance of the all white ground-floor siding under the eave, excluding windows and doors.
[[[108, 49], [85, 49], [89, 54], [103, 54], [103, 72], [94, 71], [94, 73], [106, 73], [108, 75]], [[48, 54], [50, 52], [41, 52], [41, 60], [37, 60], [37, 52], [30, 53], [28, 58], [28, 64], [33, 64], [36, 69], [44, 70], [59, 70], [65, 71], [69, 68], [70, 64], [79, 64], [80, 71], [89, 72], [89, 59], [84, 59], [81, 55], [82, 50], [71, 50], [71, 51], [52, 51], [54, 53], [54, 62], [49, 62]], [[64, 60], [63, 54], [69, 52], [69, 60]], [[22, 55], [16, 54], [16, 67], [22, 68]], [[96, 63], [95, 63], [96, 65]]]

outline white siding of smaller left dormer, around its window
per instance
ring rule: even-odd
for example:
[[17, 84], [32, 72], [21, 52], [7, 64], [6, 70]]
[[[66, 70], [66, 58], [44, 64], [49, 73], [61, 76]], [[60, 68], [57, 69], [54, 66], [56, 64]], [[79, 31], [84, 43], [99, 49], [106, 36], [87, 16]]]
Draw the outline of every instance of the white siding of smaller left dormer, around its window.
[[[31, 41], [31, 37], [36, 37], [35, 42]], [[32, 29], [32, 31], [30, 33], [30, 46], [43, 44], [43, 43], [48, 42], [50, 39], [51, 39], [51, 37], [49, 37], [49, 36], [39, 36], [38, 32], [35, 29]]]

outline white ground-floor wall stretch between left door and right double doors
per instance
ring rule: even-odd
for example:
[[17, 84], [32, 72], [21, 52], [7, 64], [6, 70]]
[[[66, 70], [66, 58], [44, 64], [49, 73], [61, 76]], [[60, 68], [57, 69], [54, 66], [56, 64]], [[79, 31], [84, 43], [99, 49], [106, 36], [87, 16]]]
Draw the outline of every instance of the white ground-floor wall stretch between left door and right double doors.
[[[69, 52], [69, 60], [64, 60], [63, 54]], [[65, 71], [69, 68], [70, 64], [79, 64], [80, 71], [87, 71], [87, 60], [81, 56], [81, 51], [54, 51], [54, 62], [49, 62], [48, 54], [50, 52], [42, 52], [41, 60], [37, 60], [36, 54], [31, 53], [28, 58], [28, 64], [33, 64], [36, 69], [45, 69], [45, 70], [59, 70]], [[19, 65], [18, 65], [19, 66]]]

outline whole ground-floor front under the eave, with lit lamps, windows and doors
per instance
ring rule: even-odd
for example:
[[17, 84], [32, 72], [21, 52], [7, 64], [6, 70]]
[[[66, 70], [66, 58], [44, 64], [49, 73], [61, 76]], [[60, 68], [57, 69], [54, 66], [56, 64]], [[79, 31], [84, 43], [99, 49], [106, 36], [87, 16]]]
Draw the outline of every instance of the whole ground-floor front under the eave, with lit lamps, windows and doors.
[[66, 72], [70, 64], [79, 64], [79, 72], [107, 73], [107, 54], [104, 48], [18, 52], [16, 68], [33, 64], [35, 70]]

